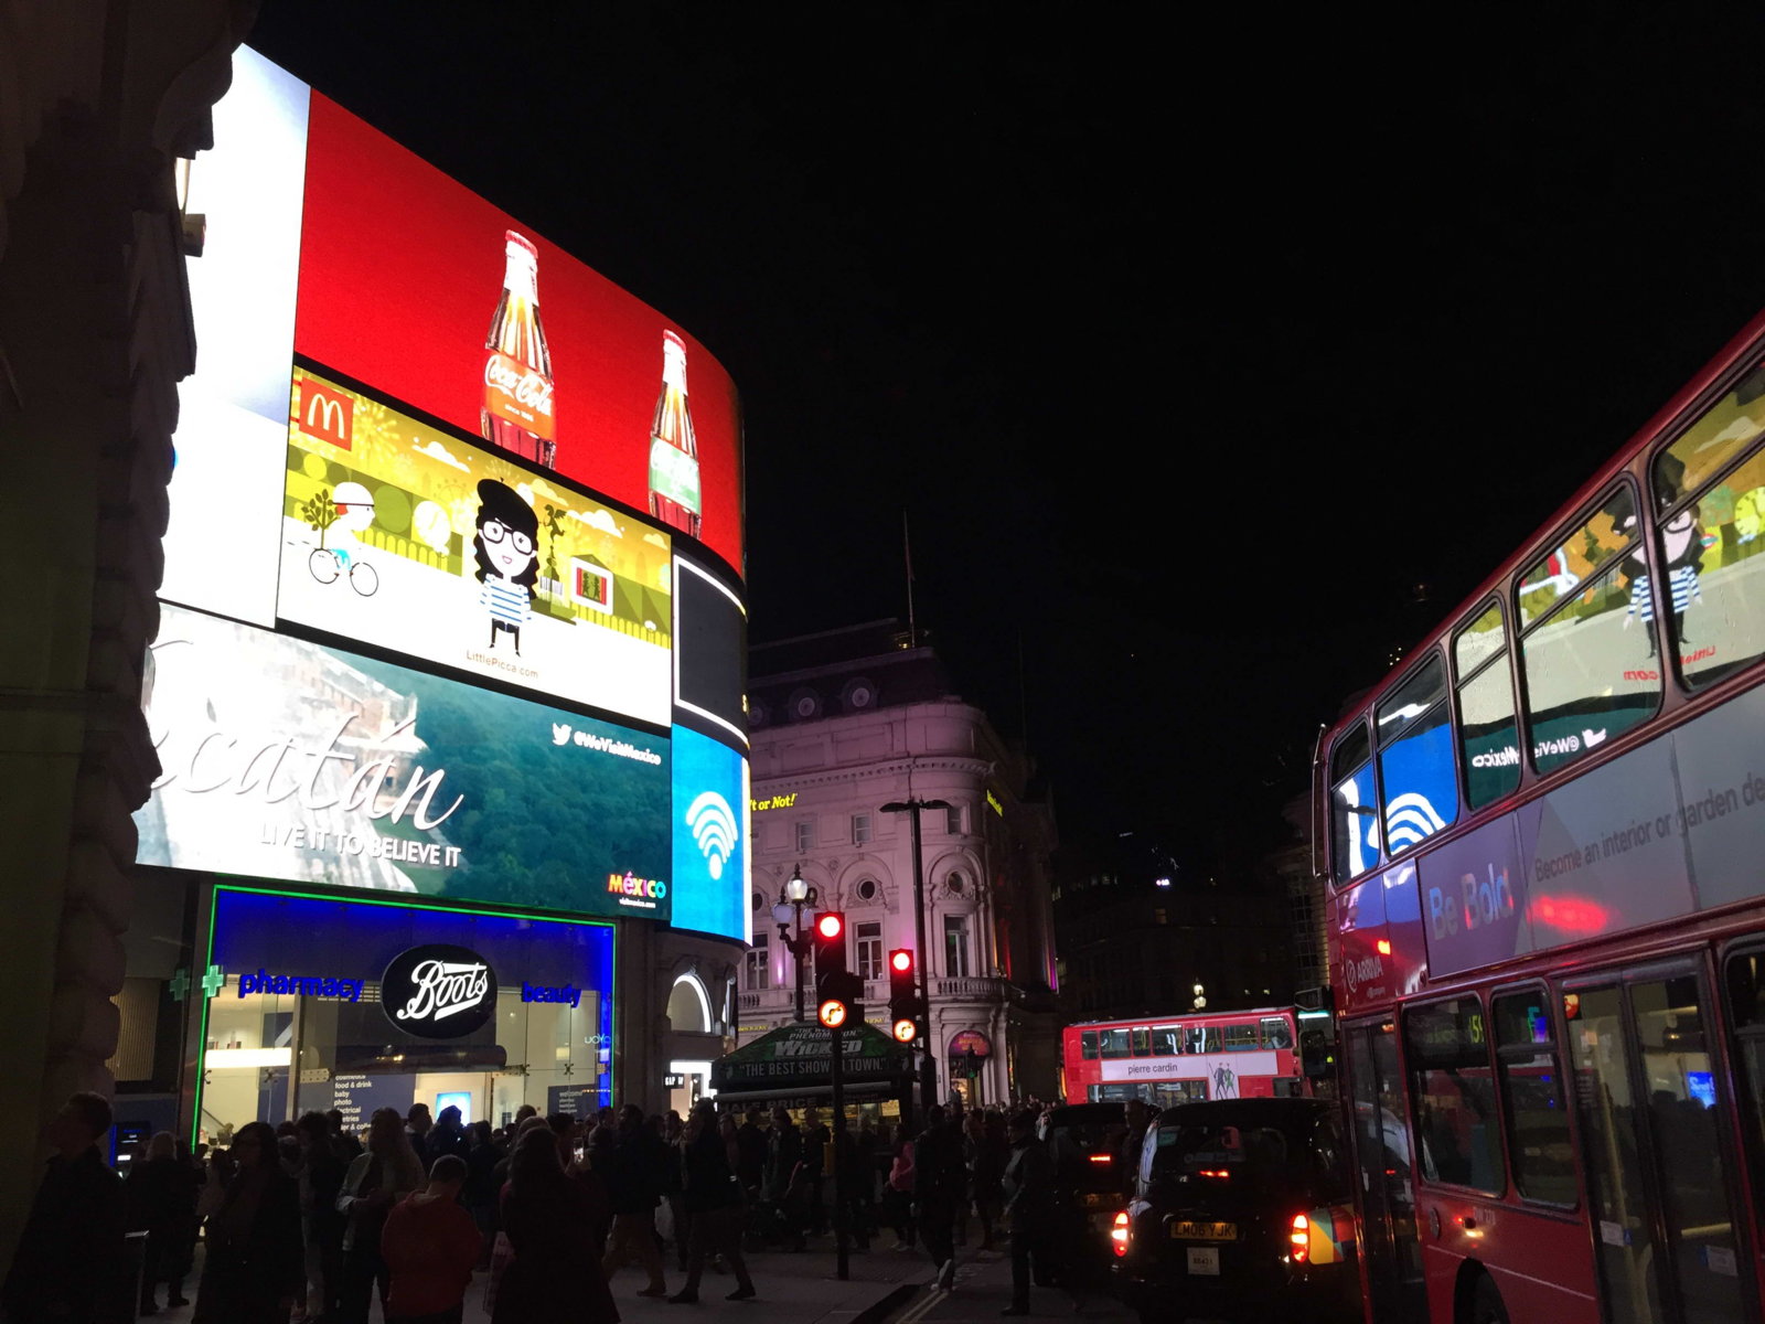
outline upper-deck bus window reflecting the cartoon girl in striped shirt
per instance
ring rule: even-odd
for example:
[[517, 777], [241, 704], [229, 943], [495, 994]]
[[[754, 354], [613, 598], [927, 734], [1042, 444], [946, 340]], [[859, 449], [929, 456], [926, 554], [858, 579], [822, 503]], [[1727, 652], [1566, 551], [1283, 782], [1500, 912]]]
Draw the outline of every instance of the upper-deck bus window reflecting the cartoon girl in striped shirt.
[[[1765, 401], [1753, 408], [1765, 410]], [[1677, 452], [1656, 457], [1656, 496], [1663, 501], [1686, 494], [1686, 463]], [[1656, 537], [1666, 583], [1652, 600], [1643, 598], [1643, 609], [1659, 602], [1668, 613], [1668, 639], [1686, 683], [1709, 685], [1765, 653], [1765, 588], [1751, 567], [1765, 551], [1765, 450], [1754, 450], [1696, 500], [1661, 514]]]

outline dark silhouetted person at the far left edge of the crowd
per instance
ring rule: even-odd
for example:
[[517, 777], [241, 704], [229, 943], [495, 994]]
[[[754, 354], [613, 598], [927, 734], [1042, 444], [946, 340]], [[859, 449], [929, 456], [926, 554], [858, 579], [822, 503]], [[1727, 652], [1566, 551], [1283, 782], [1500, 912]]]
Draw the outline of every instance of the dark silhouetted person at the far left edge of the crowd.
[[49, 1121], [55, 1155], [0, 1287], [9, 1319], [90, 1324], [120, 1282], [127, 1202], [97, 1147], [109, 1128], [109, 1100], [86, 1091]]

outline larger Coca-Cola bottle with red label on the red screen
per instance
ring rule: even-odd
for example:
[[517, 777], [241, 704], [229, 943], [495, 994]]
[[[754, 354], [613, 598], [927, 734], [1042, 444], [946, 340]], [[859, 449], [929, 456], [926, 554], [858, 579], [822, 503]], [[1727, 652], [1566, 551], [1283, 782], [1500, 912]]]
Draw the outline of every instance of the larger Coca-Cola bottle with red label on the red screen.
[[484, 413], [487, 441], [552, 468], [558, 459], [552, 422], [551, 350], [540, 321], [540, 254], [533, 240], [503, 231], [508, 265], [503, 297], [484, 337]]

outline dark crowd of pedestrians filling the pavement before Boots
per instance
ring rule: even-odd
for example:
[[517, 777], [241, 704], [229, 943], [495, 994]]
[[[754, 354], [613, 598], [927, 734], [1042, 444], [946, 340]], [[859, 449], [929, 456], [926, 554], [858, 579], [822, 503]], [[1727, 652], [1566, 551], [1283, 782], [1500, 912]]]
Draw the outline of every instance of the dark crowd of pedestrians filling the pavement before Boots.
[[[92, 1317], [99, 1266], [120, 1266], [124, 1234], [139, 1230], [141, 1315], [189, 1305], [199, 1245], [198, 1324], [365, 1324], [376, 1298], [388, 1324], [457, 1324], [475, 1273], [498, 1324], [612, 1324], [623, 1266], [641, 1269], [639, 1296], [695, 1303], [715, 1268], [745, 1301], [757, 1296], [745, 1250], [801, 1252], [830, 1227], [858, 1250], [891, 1229], [950, 1289], [957, 1245], [974, 1227], [990, 1248], [1008, 1213], [1027, 1294], [1033, 1257], [1038, 1282], [1057, 1273], [1036, 1116], [934, 1107], [916, 1133], [891, 1135], [868, 1117], [830, 1126], [808, 1109], [798, 1125], [784, 1107], [738, 1116], [702, 1100], [685, 1119], [522, 1107], [494, 1130], [417, 1103], [374, 1112], [365, 1137], [337, 1110], [252, 1121], [194, 1153], [162, 1132], [118, 1177], [99, 1155], [109, 1103], [74, 1095], [0, 1303], [16, 1320]], [[669, 1262], [683, 1275], [672, 1292]]]

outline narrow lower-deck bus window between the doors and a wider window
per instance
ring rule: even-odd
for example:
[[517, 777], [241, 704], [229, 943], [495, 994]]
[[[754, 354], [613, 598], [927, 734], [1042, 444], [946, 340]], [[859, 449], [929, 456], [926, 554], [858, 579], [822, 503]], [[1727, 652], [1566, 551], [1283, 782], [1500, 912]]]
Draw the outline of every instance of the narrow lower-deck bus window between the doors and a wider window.
[[1543, 989], [1528, 989], [1497, 997], [1491, 1012], [1514, 1186], [1523, 1199], [1573, 1207], [1574, 1149], [1550, 999]]

